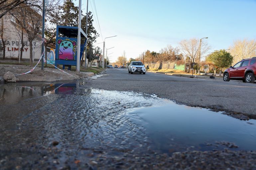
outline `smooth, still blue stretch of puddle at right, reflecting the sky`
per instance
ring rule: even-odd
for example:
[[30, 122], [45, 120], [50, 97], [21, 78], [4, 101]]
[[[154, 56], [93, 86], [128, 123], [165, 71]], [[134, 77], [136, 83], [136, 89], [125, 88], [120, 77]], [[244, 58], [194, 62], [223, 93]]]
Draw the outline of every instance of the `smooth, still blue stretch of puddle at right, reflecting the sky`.
[[154, 148], [162, 152], [256, 149], [256, 120], [241, 121], [221, 112], [173, 102], [135, 109], [127, 116], [146, 129]]

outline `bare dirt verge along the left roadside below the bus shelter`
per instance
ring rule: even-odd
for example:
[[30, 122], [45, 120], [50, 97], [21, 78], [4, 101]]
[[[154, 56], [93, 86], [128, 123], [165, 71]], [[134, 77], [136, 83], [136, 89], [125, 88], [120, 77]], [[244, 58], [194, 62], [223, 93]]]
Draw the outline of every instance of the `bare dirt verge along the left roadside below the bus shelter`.
[[[3, 76], [6, 72], [10, 71], [15, 75], [26, 73], [31, 70], [33, 66], [26, 65], [0, 65], [0, 76]], [[101, 72], [103, 70], [94, 69], [94, 72]], [[76, 72], [64, 70], [68, 75], [61, 70], [54, 68], [44, 68], [41, 70], [40, 66], [37, 66], [31, 73], [25, 75], [16, 76], [17, 81], [32, 81], [32, 82], [51, 82], [51, 81], [64, 81], [64, 80], [75, 80], [92, 77], [95, 74], [93, 72]]]

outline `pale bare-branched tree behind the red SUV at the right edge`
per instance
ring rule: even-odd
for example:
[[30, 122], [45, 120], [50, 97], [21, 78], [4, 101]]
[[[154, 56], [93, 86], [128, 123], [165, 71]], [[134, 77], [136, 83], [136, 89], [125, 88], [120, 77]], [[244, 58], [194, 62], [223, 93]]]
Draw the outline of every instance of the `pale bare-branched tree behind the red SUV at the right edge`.
[[230, 53], [233, 56], [233, 63], [238, 61], [255, 57], [256, 56], [256, 40], [255, 39], [243, 39], [235, 40], [233, 45], [230, 47]]

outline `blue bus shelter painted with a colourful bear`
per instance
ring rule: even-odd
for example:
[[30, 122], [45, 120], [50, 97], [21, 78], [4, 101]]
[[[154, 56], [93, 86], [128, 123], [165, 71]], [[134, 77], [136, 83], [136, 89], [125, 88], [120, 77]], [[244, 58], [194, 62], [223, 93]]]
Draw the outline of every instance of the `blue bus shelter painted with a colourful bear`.
[[[71, 70], [71, 66], [76, 66], [77, 61], [77, 35], [78, 27], [57, 26], [56, 30], [56, 49], [55, 49], [55, 66], [63, 65]], [[80, 45], [79, 60], [82, 58], [83, 50], [86, 44], [87, 35], [81, 29], [81, 38], [85, 38], [84, 43]]]

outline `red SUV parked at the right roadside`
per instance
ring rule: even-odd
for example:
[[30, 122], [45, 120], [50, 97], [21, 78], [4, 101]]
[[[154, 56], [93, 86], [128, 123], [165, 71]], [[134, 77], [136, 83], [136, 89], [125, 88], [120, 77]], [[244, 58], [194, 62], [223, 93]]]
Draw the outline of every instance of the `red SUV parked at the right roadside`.
[[226, 69], [223, 74], [223, 80], [242, 80], [244, 83], [254, 83], [256, 75], [256, 57], [247, 58], [239, 61]]

